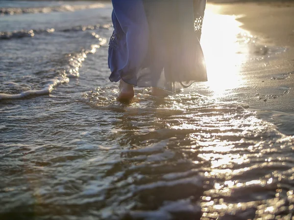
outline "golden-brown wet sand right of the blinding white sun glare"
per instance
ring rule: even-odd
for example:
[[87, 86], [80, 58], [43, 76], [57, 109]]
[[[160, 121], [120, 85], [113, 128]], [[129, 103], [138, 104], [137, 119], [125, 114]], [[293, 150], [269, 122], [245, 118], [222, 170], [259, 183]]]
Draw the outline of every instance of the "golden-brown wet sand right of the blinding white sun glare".
[[[238, 101], [252, 109], [294, 113], [294, 2], [208, 4], [207, 9], [236, 16], [242, 29], [259, 38], [259, 48], [251, 48], [251, 54], [270, 55], [243, 67], [249, 89], [240, 90]], [[271, 46], [281, 51], [270, 54]], [[283, 88], [287, 94], [277, 97]]]

